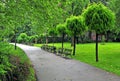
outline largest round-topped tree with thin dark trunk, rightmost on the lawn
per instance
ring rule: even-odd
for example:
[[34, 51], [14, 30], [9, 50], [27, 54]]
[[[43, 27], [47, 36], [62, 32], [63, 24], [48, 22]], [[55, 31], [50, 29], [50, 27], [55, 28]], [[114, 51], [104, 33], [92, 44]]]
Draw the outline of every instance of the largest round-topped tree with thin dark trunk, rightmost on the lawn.
[[113, 29], [115, 15], [102, 3], [90, 4], [82, 15], [89, 29], [96, 32], [96, 62], [98, 62], [98, 35]]

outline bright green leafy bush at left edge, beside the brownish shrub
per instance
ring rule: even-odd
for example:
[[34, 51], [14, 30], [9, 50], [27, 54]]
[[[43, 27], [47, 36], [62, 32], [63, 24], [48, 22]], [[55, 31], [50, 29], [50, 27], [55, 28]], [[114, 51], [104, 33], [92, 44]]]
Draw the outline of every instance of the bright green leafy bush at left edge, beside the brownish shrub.
[[0, 42], [0, 76], [10, 71], [10, 67], [13, 67], [9, 62], [10, 48], [8, 44]]

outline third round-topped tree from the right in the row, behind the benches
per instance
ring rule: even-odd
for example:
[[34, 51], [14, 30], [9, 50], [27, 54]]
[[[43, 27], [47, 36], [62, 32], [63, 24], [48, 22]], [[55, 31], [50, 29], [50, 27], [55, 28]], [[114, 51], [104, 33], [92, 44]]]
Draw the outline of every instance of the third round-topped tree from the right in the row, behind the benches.
[[66, 34], [66, 25], [65, 24], [58, 24], [57, 31], [62, 36], [62, 52], [63, 52], [64, 37]]

